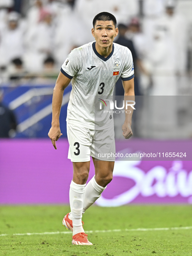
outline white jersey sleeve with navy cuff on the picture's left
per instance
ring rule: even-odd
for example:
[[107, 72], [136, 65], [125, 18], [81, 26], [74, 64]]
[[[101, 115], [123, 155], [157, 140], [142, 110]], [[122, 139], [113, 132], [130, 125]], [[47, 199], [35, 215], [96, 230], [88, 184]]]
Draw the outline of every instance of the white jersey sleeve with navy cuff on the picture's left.
[[61, 73], [72, 79], [73, 76], [78, 73], [81, 67], [81, 53], [78, 48], [75, 48], [67, 56], [67, 59], [64, 61], [61, 66]]

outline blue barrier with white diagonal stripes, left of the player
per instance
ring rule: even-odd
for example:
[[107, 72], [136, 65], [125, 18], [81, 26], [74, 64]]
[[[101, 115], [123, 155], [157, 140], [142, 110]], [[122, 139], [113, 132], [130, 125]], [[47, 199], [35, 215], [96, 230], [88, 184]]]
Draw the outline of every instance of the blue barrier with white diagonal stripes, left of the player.
[[[10, 108], [17, 118], [16, 138], [47, 138], [52, 120], [52, 95], [54, 84], [2, 86], [3, 104]], [[67, 137], [66, 117], [71, 85], [63, 95], [60, 113], [60, 127]]]

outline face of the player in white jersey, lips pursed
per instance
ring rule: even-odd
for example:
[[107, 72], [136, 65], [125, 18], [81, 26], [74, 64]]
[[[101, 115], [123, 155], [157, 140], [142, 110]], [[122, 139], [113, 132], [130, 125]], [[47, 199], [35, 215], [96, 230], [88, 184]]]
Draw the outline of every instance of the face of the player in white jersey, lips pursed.
[[109, 47], [118, 35], [118, 28], [115, 28], [112, 20], [97, 20], [92, 35], [100, 47]]

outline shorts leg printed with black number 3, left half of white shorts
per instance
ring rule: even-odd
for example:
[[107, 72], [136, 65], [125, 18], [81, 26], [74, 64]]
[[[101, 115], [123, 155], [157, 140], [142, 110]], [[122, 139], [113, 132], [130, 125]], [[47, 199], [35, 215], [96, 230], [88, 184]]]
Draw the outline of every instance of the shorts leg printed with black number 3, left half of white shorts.
[[67, 137], [69, 141], [68, 158], [71, 159], [71, 162], [90, 161], [92, 137], [89, 134], [89, 129], [67, 123]]

